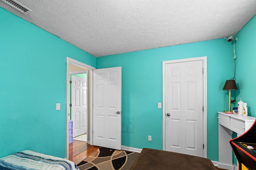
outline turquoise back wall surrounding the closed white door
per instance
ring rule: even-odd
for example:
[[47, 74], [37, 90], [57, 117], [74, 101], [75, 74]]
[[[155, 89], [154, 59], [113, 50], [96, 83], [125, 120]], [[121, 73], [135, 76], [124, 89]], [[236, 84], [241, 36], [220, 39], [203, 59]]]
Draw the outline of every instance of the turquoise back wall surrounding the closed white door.
[[[233, 45], [226, 39], [97, 58], [97, 68], [122, 66], [122, 123], [134, 126], [134, 133], [122, 132], [122, 145], [162, 149], [162, 109], [157, 108], [162, 103], [162, 61], [203, 56], [208, 65], [208, 158], [218, 161], [217, 111], [228, 109], [222, 88], [234, 76]], [[127, 117], [134, 117], [134, 123]]]

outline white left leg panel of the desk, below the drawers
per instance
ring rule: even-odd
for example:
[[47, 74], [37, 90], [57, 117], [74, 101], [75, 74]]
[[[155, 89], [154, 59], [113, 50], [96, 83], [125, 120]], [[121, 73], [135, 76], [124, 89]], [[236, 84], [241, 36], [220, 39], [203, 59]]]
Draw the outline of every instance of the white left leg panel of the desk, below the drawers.
[[234, 170], [232, 164], [232, 148], [229, 140], [232, 139], [232, 131], [222, 125], [219, 127], [219, 163], [218, 168]]

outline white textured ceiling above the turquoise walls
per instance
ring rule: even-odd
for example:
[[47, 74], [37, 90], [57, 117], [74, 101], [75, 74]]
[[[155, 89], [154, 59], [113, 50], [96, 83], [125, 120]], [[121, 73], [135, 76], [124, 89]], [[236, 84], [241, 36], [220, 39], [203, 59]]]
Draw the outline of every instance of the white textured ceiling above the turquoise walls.
[[17, 0], [34, 23], [95, 57], [235, 35], [256, 0]]

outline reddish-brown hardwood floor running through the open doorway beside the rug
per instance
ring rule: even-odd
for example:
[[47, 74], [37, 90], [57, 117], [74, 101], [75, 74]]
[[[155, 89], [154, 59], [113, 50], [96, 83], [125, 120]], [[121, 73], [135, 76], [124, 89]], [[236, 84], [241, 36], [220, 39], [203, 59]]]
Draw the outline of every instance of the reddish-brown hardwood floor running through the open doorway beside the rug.
[[73, 140], [73, 142], [69, 144], [69, 160], [78, 164], [98, 148], [99, 147], [92, 146], [86, 142]]

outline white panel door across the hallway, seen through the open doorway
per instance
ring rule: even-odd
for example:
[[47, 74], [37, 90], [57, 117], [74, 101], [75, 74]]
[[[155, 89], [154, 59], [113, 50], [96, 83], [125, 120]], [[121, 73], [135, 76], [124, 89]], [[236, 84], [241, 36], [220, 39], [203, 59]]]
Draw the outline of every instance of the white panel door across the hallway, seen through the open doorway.
[[73, 137], [87, 133], [87, 78], [71, 76]]

